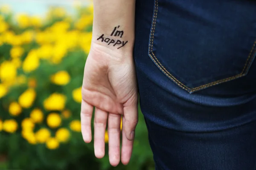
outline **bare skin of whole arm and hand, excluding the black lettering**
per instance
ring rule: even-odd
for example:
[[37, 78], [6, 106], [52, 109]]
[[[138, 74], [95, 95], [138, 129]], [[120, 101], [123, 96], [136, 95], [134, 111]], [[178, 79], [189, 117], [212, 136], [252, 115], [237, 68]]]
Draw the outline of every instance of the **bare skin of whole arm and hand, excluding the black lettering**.
[[[95, 156], [105, 156], [105, 130], [108, 125], [110, 164], [117, 166], [120, 157], [123, 164], [128, 164], [138, 122], [138, 92], [133, 59], [135, 0], [94, 0], [93, 3], [93, 39], [84, 67], [82, 85], [82, 136], [84, 142], [92, 141], [91, 119], [95, 107]], [[124, 31], [122, 38], [110, 36], [116, 26]], [[117, 49], [113, 45], [97, 41], [102, 34], [128, 42]]]

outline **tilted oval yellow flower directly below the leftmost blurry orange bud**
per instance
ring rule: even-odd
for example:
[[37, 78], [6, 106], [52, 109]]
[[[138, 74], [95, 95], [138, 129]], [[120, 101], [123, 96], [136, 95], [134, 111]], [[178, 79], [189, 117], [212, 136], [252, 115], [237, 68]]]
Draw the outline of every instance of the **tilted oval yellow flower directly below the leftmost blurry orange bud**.
[[18, 102], [23, 108], [30, 108], [35, 101], [35, 96], [35, 90], [33, 88], [29, 88], [20, 95]]

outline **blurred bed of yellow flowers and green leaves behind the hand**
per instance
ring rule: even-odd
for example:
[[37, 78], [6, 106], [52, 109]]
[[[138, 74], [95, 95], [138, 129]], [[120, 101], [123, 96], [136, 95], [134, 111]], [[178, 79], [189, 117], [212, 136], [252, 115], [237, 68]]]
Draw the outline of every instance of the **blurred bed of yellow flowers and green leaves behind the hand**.
[[[6, 169], [111, 169], [81, 137], [84, 63], [90, 50], [93, 7], [49, 8], [45, 18], [0, 7], [0, 164]], [[140, 113], [128, 166], [154, 169]], [[92, 126], [93, 127], [93, 126]], [[105, 136], [108, 147], [108, 135]], [[107, 153], [107, 152], [106, 152]]]

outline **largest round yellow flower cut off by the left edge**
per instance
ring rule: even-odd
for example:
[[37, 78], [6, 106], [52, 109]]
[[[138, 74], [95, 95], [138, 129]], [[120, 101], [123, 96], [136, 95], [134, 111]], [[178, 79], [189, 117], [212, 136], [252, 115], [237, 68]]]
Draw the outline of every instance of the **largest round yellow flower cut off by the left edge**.
[[17, 75], [15, 65], [10, 61], [4, 61], [0, 65], [0, 79], [2, 81], [10, 81], [15, 79]]

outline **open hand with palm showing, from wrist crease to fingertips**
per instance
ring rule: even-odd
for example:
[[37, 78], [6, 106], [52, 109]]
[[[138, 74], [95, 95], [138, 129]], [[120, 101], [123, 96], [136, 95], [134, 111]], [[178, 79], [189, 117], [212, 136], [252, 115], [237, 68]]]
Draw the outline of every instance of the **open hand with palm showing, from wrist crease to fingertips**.
[[105, 129], [108, 120], [109, 161], [120, 161], [120, 121], [122, 116], [121, 161], [131, 158], [134, 130], [138, 122], [138, 93], [131, 52], [113, 51], [92, 44], [84, 67], [81, 103], [81, 131], [84, 142], [91, 142], [91, 118], [94, 115], [94, 152], [105, 155]]

